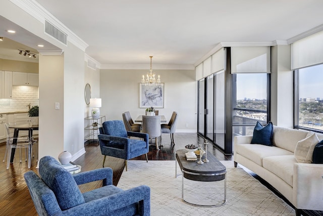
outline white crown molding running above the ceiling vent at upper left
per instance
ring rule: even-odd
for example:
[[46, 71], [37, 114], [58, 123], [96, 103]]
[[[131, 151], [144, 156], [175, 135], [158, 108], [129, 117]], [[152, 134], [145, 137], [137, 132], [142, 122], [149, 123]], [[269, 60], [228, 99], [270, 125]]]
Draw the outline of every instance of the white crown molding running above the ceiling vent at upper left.
[[61, 21], [59, 21], [55, 16], [49, 13], [45, 8], [43, 8], [35, 0], [10, 0], [13, 4], [24, 10], [26, 13], [34, 17], [36, 20], [45, 25], [45, 20], [50, 22], [52, 25], [67, 34], [67, 40], [78, 47], [80, 50], [85, 52], [88, 44], [80, 37], [78, 37], [73, 31], [66, 27]]

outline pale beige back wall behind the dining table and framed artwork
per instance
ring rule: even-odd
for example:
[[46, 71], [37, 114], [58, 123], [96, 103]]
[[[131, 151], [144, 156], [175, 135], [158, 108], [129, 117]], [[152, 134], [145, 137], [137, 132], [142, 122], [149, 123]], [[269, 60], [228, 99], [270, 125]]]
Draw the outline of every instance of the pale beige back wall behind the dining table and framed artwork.
[[[122, 120], [122, 113], [129, 111], [133, 120], [145, 113], [139, 108], [139, 82], [149, 70], [101, 70], [101, 115], [106, 120]], [[165, 106], [158, 108], [160, 115], [171, 118], [179, 113], [177, 132], [196, 132], [197, 82], [194, 70], [153, 70], [165, 83]], [[186, 127], [186, 124], [188, 125]]]

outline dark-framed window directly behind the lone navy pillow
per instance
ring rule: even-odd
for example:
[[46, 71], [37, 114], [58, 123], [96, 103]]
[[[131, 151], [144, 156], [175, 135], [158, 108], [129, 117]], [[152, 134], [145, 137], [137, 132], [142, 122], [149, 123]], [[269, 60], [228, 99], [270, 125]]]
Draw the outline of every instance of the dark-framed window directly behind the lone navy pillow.
[[268, 120], [267, 73], [240, 73], [234, 80], [233, 97], [233, 136], [252, 135], [257, 121], [265, 124]]

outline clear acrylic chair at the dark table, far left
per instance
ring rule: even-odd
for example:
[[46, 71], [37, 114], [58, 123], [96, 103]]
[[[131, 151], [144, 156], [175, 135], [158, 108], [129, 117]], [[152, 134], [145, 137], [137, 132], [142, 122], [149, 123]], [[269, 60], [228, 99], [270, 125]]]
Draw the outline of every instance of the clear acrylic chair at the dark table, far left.
[[[32, 146], [37, 142], [31, 137], [31, 129], [29, 130], [29, 136], [26, 137], [16, 137], [15, 135], [15, 129], [11, 126], [15, 126], [16, 123], [5, 123], [6, 131], [7, 131], [7, 142], [6, 142], [6, 152], [5, 157], [7, 153], [7, 169], [9, 169], [10, 164], [10, 157], [12, 149], [19, 149], [20, 150], [20, 162], [21, 162], [21, 149], [28, 150], [28, 154], [26, 154], [26, 160], [28, 160], [28, 168], [31, 166], [31, 157], [32, 157]], [[38, 160], [38, 152], [34, 153], [37, 154], [37, 160]]]

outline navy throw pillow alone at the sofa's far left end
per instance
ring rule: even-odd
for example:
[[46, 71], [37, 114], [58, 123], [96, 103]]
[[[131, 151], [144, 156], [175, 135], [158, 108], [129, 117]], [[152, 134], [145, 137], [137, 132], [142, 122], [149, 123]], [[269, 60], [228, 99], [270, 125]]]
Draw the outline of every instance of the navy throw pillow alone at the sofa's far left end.
[[271, 121], [268, 122], [265, 126], [262, 126], [260, 122], [257, 121], [256, 126], [253, 129], [251, 144], [273, 146], [273, 134], [274, 126]]

